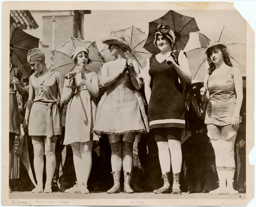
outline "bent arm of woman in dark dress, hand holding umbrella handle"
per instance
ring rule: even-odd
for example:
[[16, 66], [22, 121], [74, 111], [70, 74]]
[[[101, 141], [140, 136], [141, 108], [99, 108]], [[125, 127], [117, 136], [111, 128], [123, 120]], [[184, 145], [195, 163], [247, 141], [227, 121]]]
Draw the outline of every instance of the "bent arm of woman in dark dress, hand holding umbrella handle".
[[175, 63], [171, 56], [168, 57], [167, 60], [171, 61], [171, 65], [177, 70], [179, 76], [185, 83], [191, 83], [192, 75], [189, 69], [189, 61], [182, 50], [180, 51], [178, 57], [179, 65]]

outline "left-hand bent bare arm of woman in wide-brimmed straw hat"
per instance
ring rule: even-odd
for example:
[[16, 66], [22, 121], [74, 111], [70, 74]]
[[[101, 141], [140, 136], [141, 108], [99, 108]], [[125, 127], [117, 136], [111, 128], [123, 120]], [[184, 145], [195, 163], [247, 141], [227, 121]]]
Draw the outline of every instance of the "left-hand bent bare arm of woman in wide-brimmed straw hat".
[[114, 75], [108, 76], [108, 63], [104, 63], [101, 68], [101, 85], [102, 87], [109, 86], [118, 79], [119, 76], [126, 72], [126, 67], [120, 68]]

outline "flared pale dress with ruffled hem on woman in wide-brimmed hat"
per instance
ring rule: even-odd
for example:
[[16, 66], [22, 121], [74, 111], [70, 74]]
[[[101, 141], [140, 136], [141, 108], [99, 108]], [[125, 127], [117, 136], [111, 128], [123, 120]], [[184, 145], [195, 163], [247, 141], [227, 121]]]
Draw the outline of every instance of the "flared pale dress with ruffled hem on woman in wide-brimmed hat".
[[[108, 64], [108, 75], [113, 75], [117, 68], [112, 61], [105, 64]], [[128, 72], [110, 84], [99, 101], [93, 131], [98, 135], [149, 131], [144, 99], [133, 86]]]

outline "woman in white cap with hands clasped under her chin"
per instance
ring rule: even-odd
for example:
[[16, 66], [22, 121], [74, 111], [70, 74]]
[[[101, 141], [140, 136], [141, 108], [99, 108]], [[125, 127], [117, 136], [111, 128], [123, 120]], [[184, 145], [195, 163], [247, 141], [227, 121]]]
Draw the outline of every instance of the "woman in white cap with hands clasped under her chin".
[[93, 141], [98, 141], [91, 130], [95, 121], [99, 84], [97, 73], [86, 69], [90, 62], [87, 48], [75, 46], [71, 58], [76, 67], [65, 76], [61, 98], [64, 105], [68, 104], [63, 144], [71, 144], [77, 184], [64, 192], [88, 194], [87, 181], [92, 166], [92, 146]]

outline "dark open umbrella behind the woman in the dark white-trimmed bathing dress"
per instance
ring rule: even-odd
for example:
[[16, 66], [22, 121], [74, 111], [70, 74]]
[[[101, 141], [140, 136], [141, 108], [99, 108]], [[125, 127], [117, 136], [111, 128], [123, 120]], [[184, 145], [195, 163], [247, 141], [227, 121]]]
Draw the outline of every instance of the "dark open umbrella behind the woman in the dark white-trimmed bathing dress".
[[169, 25], [175, 34], [176, 38], [172, 50], [183, 50], [189, 41], [189, 33], [200, 31], [195, 18], [170, 10], [163, 17], [149, 22], [148, 37], [143, 48], [152, 55], [160, 53], [153, 41], [155, 39], [155, 26], [160, 26], [161, 23], [163, 23], [163, 26]]

